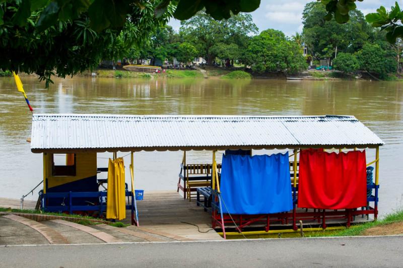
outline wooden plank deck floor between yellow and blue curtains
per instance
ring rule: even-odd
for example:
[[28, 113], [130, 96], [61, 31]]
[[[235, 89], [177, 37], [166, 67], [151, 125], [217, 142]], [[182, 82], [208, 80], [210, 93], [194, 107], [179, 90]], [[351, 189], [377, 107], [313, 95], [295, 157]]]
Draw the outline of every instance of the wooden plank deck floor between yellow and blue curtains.
[[[194, 200], [183, 199], [175, 190], [145, 191], [144, 200], [137, 202], [140, 227], [131, 228], [179, 241], [223, 239], [211, 228], [210, 214]], [[129, 223], [129, 217], [124, 222]]]

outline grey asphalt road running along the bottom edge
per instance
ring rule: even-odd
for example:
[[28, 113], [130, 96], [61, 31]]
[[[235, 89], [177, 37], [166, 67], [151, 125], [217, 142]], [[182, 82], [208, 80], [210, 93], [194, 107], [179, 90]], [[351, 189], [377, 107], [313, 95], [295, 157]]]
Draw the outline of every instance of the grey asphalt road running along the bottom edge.
[[0, 247], [1, 267], [402, 267], [403, 236]]

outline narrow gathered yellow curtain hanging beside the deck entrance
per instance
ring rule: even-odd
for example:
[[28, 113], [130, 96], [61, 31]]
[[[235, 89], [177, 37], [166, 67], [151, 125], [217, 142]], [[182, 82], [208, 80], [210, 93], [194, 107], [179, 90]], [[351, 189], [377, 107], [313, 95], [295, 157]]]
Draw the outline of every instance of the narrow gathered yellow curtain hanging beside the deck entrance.
[[123, 158], [109, 159], [106, 218], [122, 220], [126, 218]]

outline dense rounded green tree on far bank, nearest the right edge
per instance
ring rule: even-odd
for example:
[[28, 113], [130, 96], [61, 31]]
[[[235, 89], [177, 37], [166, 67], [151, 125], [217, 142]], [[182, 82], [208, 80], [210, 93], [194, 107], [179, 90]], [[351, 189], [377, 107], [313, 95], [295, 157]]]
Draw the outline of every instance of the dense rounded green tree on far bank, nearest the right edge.
[[366, 43], [357, 52], [360, 70], [367, 71], [385, 79], [387, 74], [396, 70], [395, 55], [378, 44]]

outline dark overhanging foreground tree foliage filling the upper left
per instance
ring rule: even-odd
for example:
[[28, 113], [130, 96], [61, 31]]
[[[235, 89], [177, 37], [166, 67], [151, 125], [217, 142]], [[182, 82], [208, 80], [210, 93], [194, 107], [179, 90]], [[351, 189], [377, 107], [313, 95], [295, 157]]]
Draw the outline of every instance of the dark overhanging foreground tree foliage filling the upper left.
[[[73, 76], [142, 46], [174, 16], [215, 19], [252, 12], [260, 0], [0, 0], [0, 69]], [[220, 8], [217, 8], [220, 7]]]

